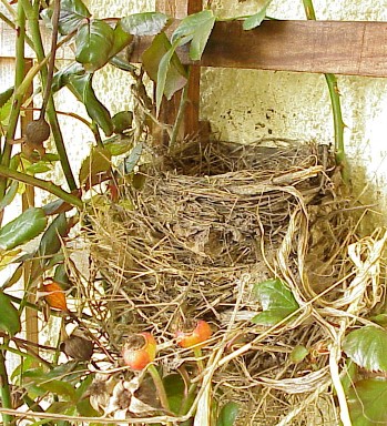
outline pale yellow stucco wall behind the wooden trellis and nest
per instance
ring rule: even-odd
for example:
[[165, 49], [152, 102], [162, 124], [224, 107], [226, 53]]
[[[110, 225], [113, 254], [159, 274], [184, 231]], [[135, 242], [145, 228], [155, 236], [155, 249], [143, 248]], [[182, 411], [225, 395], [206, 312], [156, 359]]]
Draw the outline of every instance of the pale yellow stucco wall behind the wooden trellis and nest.
[[[154, 1], [90, 0], [95, 16], [125, 16], [154, 10]], [[257, 0], [213, 0], [222, 17], [254, 13]], [[318, 19], [387, 20], [386, 0], [315, 0]], [[305, 19], [302, 1], [274, 0], [271, 17]], [[130, 104], [128, 75], [109, 68], [99, 72], [95, 88], [113, 112]], [[387, 79], [338, 77], [345, 143], [356, 193], [364, 204], [387, 207]], [[112, 90], [113, 89], [113, 90]], [[325, 79], [319, 74], [203, 69], [201, 118], [220, 138], [243, 143], [262, 138], [287, 138], [334, 143], [333, 118]], [[386, 224], [387, 215], [371, 215]], [[374, 224], [371, 224], [374, 226]]]

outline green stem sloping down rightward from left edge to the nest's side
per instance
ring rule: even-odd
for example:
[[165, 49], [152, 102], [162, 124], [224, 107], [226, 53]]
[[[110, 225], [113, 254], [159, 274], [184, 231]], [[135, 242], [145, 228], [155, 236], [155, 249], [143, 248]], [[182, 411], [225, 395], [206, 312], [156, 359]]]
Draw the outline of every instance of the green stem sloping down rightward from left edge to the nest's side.
[[13, 179], [14, 181], [27, 183], [28, 185], [40, 187], [41, 190], [48, 191], [53, 195], [57, 195], [61, 200], [67, 203], [78, 207], [83, 209], [83, 202], [75, 195], [65, 192], [60, 186], [57, 186], [54, 183], [50, 181], [43, 181], [42, 179], [38, 179], [34, 176], [30, 176], [29, 174], [20, 173], [14, 170], [11, 170], [4, 165], [0, 165], [0, 175], [9, 179]]

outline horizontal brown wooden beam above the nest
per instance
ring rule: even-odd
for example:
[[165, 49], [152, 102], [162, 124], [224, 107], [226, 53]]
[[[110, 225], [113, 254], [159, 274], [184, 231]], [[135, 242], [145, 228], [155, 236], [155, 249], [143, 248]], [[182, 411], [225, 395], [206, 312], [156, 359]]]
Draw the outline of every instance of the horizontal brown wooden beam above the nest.
[[[141, 39], [134, 62], [149, 43]], [[191, 63], [186, 47], [179, 53]], [[217, 22], [200, 64], [387, 77], [387, 22], [265, 21], [251, 31], [238, 21]]]

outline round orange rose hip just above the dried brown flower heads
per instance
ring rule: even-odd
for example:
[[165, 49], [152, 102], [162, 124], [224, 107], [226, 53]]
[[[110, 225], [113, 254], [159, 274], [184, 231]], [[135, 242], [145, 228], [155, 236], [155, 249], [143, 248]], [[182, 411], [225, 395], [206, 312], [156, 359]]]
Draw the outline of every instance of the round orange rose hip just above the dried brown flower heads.
[[122, 357], [132, 369], [144, 369], [156, 357], [156, 341], [151, 333], [133, 334], [125, 342]]

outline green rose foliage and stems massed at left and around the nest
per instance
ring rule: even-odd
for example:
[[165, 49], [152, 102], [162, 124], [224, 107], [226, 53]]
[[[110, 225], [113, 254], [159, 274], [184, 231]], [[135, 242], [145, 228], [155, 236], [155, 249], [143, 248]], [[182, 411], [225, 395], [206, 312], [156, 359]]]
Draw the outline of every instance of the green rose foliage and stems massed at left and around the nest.
[[[91, 393], [96, 379], [95, 374], [89, 368], [89, 359], [82, 356], [77, 358], [70, 354], [80, 354], [80, 349], [86, 346], [85, 341], [88, 352], [93, 346], [98, 346], [100, 353], [108, 357], [109, 352], [103, 351], [99, 338], [88, 329], [81, 335], [75, 332], [71, 336], [65, 334], [67, 323], [72, 323], [77, 326], [75, 329], [80, 331], [88, 318], [88, 314], [82, 312], [82, 294], [75, 295], [75, 305], [68, 304], [67, 297], [69, 294], [74, 295], [74, 288], [71, 285], [71, 271], [64, 267], [64, 258], [68, 255], [67, 240], [74, 225], [88, 229], [88, 212], [96, 201], [105, 204], [108, 209], [112, 203], [116, 203], [119, 207], [130, 210], [129, 201], [119, 196], [120, 184], [139, 184], [135, 183], [135, 173], [140, 159], [147, 149], [147, 135], [154, 131], [154, 123], [157, 123], [162, 102], [171, 100], [189, 81], [189, 68], [180, 60], [180, 49], [186, 49], [192, 61], [200, 61], [218, 17], [212, 10], [203, 10], [181, 20], [174, 31], [167, 31], [173, 19], [160, 12], [103, 19], [95, 18], [82, 0], [19, 0], [12, 3], [16, 3], [13, 7], [18, 20], [18, 47], [14, 84], [0, 93], [0, 212], [3, 213], [18, 194], [22, 194], [28, 206], [20, 215], [0, 227], [0, 267], [12, 268], [11, 275], [1, 284], [0, 290], [2, 407], [19, 407], [12, 399], [12, 389], [19, 387], [23, 395], [21, 404], [28, 405], [30, 410], [60, 414], [63, 418], [74, 415], [96, 417], [103, 415], [103, 412], [98, 404], [92, 404], [95, 403]], [[271, 0], [264, 1], [257, 13], [246, 17], [243, 28], [251, 30], [259, 26], [269, 3]], [[53, 47], [48, 55], [44, 55], [39, 13], [48, 28], [52, 29]], [[75, 48], [73, 62], [54, 72], [57, 36], [61, 37], [61, 44], [71, 42]], [[150, 48], [142, 55], [141, 67], [134, 65], [130, 58], [136, 37], [152, 38]], [[37, 63], [24, 75], [26, 43], [35, 52]], [[99, 99], [93, 85], [94, 75], [106, 65], [116, 67], [134, 79], [136, 103], [133, 111], [124, 109], [112, 115], [112, 111]], [[39, 119], [47, 118], [49, 122], [52, 152], [45, 152], [49, 146], [32, 143], [23, 134], [20, 139], [16, 135], [20, 118], [31, 108], [32, 99], [27, 97], [27, 89], [37, 82], [38, 78], [41, 81], [39, 92], [43, 98]], [[154, 100], [150, 99], [145, 90], [147, 78], [155, 83]], [[64, 88], [84, 105], [89, 116], [74, 119], [80, 120], [94, 135], [90, 152], [83, 160], [78, 175], [74, 175], [68, 159], [52, 98], [53, 93]], [[184, 97], [182, 99], [183, 105]], [[33, 122], [39, 124], [39, 120]], [[20, 152], [14, 149], [16, 144], [21, 144]], [[60, 184], [53, 183], [50, 174], [43, 174], [50, 173], [55, 162], [60, 164], [65, 179]], [[43, 174], [43, 178], [38, 178], [37, 174]], [[65, 184], [69, 190], [63, 189]], [[44, 205], [34, 206], [31, 201], [31, 187], [49, 192], [50, 201]], [[12, 287], [21, 275], [24, 280], [24, 292], [21, 297], [16, 297], [12, 295]], [[256, 284], [254, 293], [262, 307], [262, 312], [253, 318], [253, 323], [257, 325], [272, 326], [286, 321], [299, 307], [292, 292], [278, 278]], [[22, 318], [29, 317], [31, 310], [38, 312], [44, 325], [49, 323], [50, 315], [59, 318], [61, 332], [58, 342], [53, 343], [54, 346], [29, 342], [29, 335], [27, 341], [19, 336], [20, 332], [26, 331]], [[210, 336], [211, 328], [206, 324], [203, 345]], [[370, 343], [375, 338], [378, 339], [378, 345], [373, 346], [375, 353], [370, 353]], [[357, 347], [358, 342], [361, 344]], [[172, 372], [164, 377], [161, 377], [153, 364], [149, 365], [149, 362], [153, 362], [155, 353], [152, 353], [152, 357], [145, 363], [159, 399], [167, 413], [186, 415], [200, 394], [201, 383], [192, 377], [202, 374], [206, 368], [201, 353], [202, 344], [194, 342], [182, 345], [187, 349], [194, 345], [193, 362], [187, 366], [183, 364], [179, 372]], [[74, 349], [71, 345], [81, 347], [69, 351]], [[384, 346], [385, 335], [379, 328], [365, 328], [348, 335], [344, 351], [361, 367], [386, 371], [381, 356]], [[64, 361], [63, 356], [60, 356], [61, 349], [68, 355]], [[4, 359], [11, 352], [19, 355], [21, 362], [13, 374], [9, 375]], [[298, 346], [294, 349], [291, 361], [301, 363], [308, 355], [306, 347]], [[70, 357], [73, 359], [69, 359]], [[361, 418], [360, 403], [366, 406], [369, 418], [386, 420], [376, 404], [376, 400], [384, 400], [384, 385], [383, 382], [368, 379], [355, 383], [355, 387], [348, 386], [354, 422]], [[375, 394], [374, 398], [368, 397], [366, 389]], [[237, 420], [240, 405], [223, 399], [222, 406], [217, 406], [214, 400], [211, 410], [214, 424], [232, 426]], [[192, 418], [187, 419], [185, 425], [191, 424], [191, 420]], [[3, 415], [6, 426], [12, 422], [11, 415]], [[52, 423], [50, 419], [43, 419], [35, 424]], [[70, 423], [62, 419], [58, 424], [64, 426]]]

